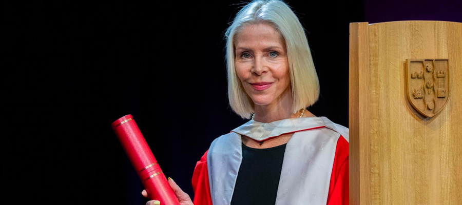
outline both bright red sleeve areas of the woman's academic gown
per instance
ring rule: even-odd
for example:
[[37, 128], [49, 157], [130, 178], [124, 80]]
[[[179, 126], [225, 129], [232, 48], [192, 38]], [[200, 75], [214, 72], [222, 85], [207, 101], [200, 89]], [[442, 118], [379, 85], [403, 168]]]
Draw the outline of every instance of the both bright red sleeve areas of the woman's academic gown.
[[[327, 205], [349, 204], [348, 145], [348, 141], [340, 136], [335, 150]], [[207, 171], [207, 152], [196, 163], [194, 174], [192, 174], [195, 205], [212, 205]]]

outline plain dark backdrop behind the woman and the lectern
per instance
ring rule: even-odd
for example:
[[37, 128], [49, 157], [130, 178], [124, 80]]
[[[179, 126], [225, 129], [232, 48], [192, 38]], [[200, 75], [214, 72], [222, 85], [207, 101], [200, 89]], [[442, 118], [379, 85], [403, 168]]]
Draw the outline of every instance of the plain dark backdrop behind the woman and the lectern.
[[[3, 2], [2, 204], [144, 204], [111, 130], [132, 114], [167, 177], [191, 198], [196, 161], [246, 120], [228, 106], [224, 31], [239, 1]], [[460, 1], [290, 1], [321, 96], [348, 127], [349, 23], [462, 22]]]

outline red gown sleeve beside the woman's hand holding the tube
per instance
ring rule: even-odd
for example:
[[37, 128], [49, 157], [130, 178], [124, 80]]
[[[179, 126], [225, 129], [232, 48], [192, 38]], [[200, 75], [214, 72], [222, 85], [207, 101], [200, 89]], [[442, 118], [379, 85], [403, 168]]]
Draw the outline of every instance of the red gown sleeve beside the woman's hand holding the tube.
[[210, 184], [208, 183], [207, 153], [196, 163], [196, 168], [192, 174], [192, 190], [194, 190], [194, 204], [212, 205], [210, 197]]

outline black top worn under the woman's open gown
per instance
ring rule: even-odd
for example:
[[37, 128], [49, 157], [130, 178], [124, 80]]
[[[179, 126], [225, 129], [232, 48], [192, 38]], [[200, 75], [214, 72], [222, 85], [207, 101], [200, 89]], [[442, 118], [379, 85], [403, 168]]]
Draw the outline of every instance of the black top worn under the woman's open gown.
[[287, 144], [256, 149], [242, 144], [242, 162], [232, 205], [275, 204]]

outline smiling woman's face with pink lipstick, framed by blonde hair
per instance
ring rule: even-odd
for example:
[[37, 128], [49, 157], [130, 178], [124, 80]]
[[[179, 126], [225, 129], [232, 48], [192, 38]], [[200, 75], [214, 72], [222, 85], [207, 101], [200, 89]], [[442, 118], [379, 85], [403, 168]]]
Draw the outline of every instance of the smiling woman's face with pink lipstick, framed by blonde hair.
[[256, 105], [279, 100], [290, 90], [287, 51], [282, 36], [267, 24], [245, 26], [236, 34], [236, 73]]

